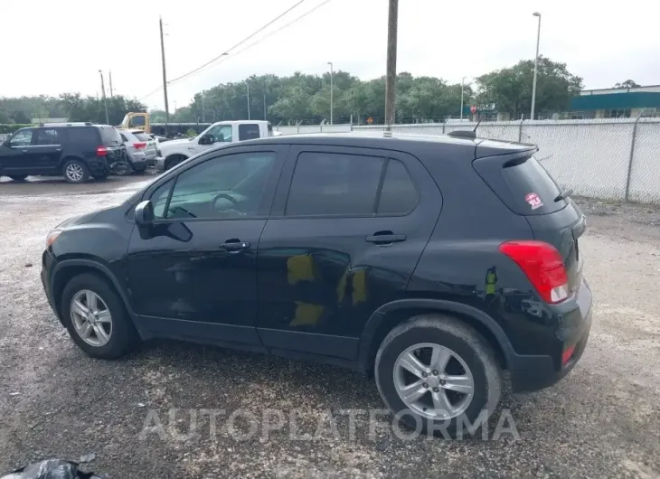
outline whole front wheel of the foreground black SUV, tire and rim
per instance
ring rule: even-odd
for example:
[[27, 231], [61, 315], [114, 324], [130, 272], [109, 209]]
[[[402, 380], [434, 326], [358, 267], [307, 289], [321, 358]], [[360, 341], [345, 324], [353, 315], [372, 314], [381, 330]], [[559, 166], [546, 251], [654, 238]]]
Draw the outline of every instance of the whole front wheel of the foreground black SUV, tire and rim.
[[92, 357], [116, 359], [137, 343], [121, 299], [96, 275], [71, 279], [61, 296], [61, 313], [71, 339]]

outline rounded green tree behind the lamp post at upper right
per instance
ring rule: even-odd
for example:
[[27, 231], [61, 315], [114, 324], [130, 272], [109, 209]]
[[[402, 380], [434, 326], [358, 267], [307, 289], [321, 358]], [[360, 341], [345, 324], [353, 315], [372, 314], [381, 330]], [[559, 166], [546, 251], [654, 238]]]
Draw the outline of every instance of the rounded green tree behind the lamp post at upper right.
[[[580, 93], [582, 79], [566, 69], [566, 63], [539, 57], [536, 83], [536, 110], [560, 111], [568, 109], [570, 98]], [[534, 62], [523, 60], [513, 67], [495, 70], [476, 78], [477, 101], [495, 103], [501, 112], [516, 117], [532, 108]]]

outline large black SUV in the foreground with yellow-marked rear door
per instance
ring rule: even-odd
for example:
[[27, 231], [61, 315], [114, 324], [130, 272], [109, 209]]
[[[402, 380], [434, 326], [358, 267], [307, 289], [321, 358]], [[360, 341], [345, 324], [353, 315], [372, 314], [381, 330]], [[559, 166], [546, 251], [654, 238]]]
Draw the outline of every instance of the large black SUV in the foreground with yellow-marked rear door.
[[355, 134], [223, 146], [52, 230], [43, 286], [91, 356], [168, 337], [314, 358], [373, 372], [402, 420], [456, 433], [495, 409], [504, 370], [538, 390], [587, 343], [585, 219], [535, 152]]

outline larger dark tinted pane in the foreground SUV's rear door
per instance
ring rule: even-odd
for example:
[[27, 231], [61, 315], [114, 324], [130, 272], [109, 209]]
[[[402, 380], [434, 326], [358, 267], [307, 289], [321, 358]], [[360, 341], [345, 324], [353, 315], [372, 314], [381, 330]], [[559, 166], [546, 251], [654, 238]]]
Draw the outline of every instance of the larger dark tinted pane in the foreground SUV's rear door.
[[286, 214], [373, 214], [384, 162], [375, 156], [300, 154]]

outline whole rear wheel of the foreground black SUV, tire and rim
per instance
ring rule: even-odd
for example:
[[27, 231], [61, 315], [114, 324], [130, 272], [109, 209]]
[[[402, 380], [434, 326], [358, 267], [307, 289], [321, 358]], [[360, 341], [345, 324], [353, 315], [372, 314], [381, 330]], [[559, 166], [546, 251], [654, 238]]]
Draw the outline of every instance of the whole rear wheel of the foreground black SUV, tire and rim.
[[376, 354], [375, 377], [401, 422], [451, 437], [479, 421], [487, 427], [502, 390], [493, 349], [446, 315], [415, 316], [392, 329]]

